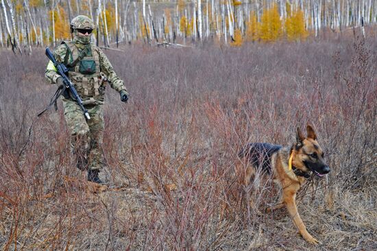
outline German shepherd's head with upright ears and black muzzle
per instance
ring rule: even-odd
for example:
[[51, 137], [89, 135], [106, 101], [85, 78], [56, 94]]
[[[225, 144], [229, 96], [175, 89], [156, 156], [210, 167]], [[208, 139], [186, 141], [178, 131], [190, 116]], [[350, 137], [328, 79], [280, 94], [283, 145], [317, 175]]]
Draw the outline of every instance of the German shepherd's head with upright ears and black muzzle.
[[324, 152], [317, 142], [317, 135], [311, 125], [306, 126], [306, 132], [305, 138], [300, 128], [297, 128], [296, 142], [293, 144], [295, 154], [292, 164], [300, 171], [313, 171], [315, 175], [323, 177], [330, 172], [330, 167], [324, 160]]

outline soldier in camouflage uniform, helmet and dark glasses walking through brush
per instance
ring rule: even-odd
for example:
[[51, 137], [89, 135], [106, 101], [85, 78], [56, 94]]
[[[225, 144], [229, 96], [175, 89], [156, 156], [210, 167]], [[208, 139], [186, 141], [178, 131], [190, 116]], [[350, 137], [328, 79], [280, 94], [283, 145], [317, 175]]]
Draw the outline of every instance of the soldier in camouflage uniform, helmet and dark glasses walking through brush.
[[[89, 181], [103, 184], [98, 174], [103, 167], [101, 145], [104, 136], [104, 80], [107, 79], [111, 88], [120, 93], [121, 101], [127, 101], [128, 93], [104, 52], [90, 43], [94, 28], [95, 25], [88, 16], [75, 17], [71, 21], [73, 41], [63, 41], [53, 51], [53, 56], [69, 69], [69, 79], [90, 115], [90, 119], [86, 120], [77, 102], [70, 95], [64, 95], [64, 119], [71, 132], [70, 142], [77, 168], [88, 170]], [[51, 61], [47, 65], [45, 76], [51, 84], [63, 84], [62, 77]]]

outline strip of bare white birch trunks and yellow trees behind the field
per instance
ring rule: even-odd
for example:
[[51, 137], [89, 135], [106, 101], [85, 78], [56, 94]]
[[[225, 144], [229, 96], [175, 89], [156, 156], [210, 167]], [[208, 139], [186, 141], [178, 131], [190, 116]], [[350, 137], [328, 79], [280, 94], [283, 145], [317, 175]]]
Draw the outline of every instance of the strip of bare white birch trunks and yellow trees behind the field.
[[[31, 50], [71, 38], [69, 23], [78, 14], [97, 26], [97, 45], [184, 43], [217, 40], [239, 46], [243, 41], [304, 40], [324, 31], [377, 23], [373, 0], [2, 0], [0, 45]], [[21, 49], [19, 49], [21, 52]]]

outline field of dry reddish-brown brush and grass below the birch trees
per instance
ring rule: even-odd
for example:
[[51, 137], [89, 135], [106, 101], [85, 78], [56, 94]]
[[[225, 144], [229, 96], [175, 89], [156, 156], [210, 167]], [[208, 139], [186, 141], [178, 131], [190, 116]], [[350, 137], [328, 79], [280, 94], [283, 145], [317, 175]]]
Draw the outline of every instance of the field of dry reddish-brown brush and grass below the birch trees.
[[[3, 250], [377, 248], [376, 41], [123, 49], [106, 51], [131, 97], [107, 92], [101, 193], [72, 164], [61, 106], [36, 119], [55, 88], [44, 51], [0, 52]], [[247, 206], [234, 166], [245, 143], [290, 144], [306, 123], [332, 168], [298, 200], [317, 247], [285, 209]]]

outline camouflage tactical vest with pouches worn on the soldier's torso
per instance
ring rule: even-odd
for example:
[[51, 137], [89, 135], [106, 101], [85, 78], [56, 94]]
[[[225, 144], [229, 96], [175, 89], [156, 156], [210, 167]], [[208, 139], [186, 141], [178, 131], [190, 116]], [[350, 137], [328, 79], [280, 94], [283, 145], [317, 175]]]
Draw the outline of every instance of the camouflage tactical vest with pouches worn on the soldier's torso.
[[64, 64], [69, 69], [69, 78], [77, 93], [82, 99], [103, 99], [106, 82], [101, 81], [99, 53], [95, 45], [89, 44], [79, 51], [73, 42], [63, 41], [62, 44], [67, 49]]

